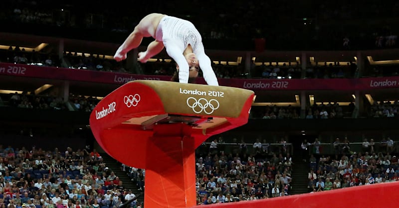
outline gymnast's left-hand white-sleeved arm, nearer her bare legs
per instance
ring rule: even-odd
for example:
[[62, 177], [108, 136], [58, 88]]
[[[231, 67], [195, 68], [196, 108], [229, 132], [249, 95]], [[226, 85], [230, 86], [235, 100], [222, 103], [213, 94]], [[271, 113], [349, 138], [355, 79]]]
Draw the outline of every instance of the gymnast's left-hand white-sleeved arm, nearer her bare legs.
[[187, 63], [183, 51], [175, 44], [168, 44], [168, 46], [165, 44], [165, 48], [168, 55], [172, 57], [179, 66], [179, 82], [189, 83], [189, 63]]

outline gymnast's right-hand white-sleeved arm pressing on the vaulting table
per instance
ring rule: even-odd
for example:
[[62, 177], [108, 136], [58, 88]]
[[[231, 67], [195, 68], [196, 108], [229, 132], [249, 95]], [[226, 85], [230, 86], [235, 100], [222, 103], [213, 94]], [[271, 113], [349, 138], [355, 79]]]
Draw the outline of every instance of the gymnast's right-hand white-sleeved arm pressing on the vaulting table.
[[[215, 73], [213, 72], [212, 65], [210, 64], [209, 57], [205, 54], [202, 43], [199, 44], [198, 50], [196, 51], [196, 56], [198, 58], [198, 63], [200, 64], [200, 69], [202, 70], [203, 79], [206, 84], [212, 86], [219, 86]], [[180, 74], [179, 74], [180, 76]]]

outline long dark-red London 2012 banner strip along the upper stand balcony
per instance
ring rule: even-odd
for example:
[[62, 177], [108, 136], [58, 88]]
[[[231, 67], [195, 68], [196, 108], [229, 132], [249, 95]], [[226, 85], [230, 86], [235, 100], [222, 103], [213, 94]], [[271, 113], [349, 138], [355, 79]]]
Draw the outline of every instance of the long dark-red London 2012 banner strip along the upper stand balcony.
[[[134, 80], [169, 81], [170, 76], [136, 75], [57, 67], [0, 63], [0, 76], [32, 77], [53, 80], [123, 85]], [[359, 79], [218, 79], [219, 85], [248, 90], [373, 90], [398, 88], [399, 77]], [[202, 78], [198, 84], [205, 84]]]

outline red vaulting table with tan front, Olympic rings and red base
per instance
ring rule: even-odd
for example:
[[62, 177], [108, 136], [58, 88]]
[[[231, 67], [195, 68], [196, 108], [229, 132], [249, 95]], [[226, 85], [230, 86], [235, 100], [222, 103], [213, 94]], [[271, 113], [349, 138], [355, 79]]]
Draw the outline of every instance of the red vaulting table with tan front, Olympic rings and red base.
[[97, 104], [90, 126], [106, 153], [146, 169], [146, 208], [193, 207], [195, 149], [247, 123], [253, 96], [232, 87], [132, 81]]

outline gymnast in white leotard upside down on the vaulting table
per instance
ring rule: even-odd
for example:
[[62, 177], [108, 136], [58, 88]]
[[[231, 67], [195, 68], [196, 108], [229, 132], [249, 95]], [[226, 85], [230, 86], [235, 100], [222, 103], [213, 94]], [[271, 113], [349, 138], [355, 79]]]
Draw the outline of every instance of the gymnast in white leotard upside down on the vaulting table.
[[165, 14], [151, 13], [140, 20], [134, 31], [116, 51], [114, 59], [116, 61], [126, 59], [127, 52], [139, 47], [143, 37], [150, 36], [155, 40], [148, 45], [147, 51], [138, 54], [140, 62], [146, 63], [165, 47], [168, 55], [177, 64], [177, 71], [172, 81], [193, 83], [201, 69], [208, 85], [219, 85], [210, 59], [205, 54], [200, 32], [190, 21]]

